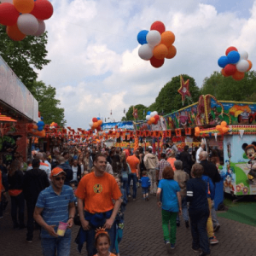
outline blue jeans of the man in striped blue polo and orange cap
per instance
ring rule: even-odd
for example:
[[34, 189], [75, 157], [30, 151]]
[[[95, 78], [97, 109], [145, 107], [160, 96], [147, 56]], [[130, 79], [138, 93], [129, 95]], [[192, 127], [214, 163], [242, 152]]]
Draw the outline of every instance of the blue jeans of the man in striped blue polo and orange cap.
[[[44, 256], [68, 256], [70, 253], [71, 230], [66, 230], [65, 236], [41, 238]], [[55, 254], [57, 252], [57, 254]]]

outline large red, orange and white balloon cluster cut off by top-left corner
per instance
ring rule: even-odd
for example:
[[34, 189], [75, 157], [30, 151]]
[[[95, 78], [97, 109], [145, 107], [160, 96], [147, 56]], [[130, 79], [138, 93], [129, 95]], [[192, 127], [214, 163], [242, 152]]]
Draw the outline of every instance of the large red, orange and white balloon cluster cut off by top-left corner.
[[1, 0], [0, 24], [7, 26], [6, 32], [14, 41], [27, 35], [41, 36], [45, 31], [44, 20], [53, 14], [48, 0]]

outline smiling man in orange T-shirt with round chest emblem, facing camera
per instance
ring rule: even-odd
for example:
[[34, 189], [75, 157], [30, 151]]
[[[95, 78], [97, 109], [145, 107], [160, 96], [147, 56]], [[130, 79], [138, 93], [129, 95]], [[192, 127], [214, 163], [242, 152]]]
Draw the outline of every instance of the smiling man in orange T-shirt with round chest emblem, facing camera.
[[94, 172], [90, 172], [80, 180], [76, 191], [79, 217], [89, 256], [96, 254], [95, 230], [99, 227], [107, 229], [111, 240], [110, 251], [113, 252], [115, 217], [122, 202], [118, 183], [111, 174], [105, 172], [107, 166], [105, 154], [96, 154], [93, 165]]

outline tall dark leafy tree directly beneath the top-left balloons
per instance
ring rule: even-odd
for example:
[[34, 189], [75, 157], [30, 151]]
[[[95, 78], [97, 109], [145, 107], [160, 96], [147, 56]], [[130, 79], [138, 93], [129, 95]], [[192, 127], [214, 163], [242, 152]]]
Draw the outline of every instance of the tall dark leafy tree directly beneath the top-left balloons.
[[41, 70], [49, 63], [46, 59], [47, 32], [40, 37], [27, 36], [24, 40], [15, 42], [6, 34], [6, 28], [0, 25], [0, 55], [14, 71], [28, 90], [38, 74], [32, 67]]

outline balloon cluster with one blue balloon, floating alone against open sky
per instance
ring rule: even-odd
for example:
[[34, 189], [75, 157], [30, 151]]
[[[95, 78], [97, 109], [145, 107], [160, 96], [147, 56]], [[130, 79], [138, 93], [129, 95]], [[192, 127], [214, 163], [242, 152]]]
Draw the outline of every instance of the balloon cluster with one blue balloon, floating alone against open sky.
[[145, 61], [150, 60], [153, 67], [163, 66], [165, 58], [172, 59], [177, 53], [172, 45], [175, 35], [171, 31], [166, 31], [166, 26], [161, 21], [154, 21], [149, 32], [148, 30], [139, 32], [137, 41], [142, 44], [138, 55]]

